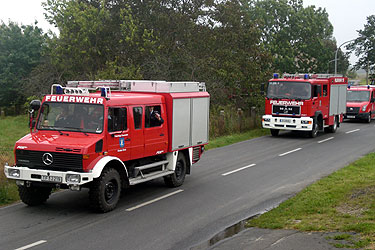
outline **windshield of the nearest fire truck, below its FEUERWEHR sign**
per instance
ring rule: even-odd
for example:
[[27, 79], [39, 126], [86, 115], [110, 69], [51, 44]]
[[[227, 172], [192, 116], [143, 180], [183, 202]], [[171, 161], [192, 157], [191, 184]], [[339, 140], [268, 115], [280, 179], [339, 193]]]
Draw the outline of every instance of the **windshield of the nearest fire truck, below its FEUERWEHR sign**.
[[40, 130], [101, 133], [104, 107], [99, 104], [45, 102], [37, 128]]

